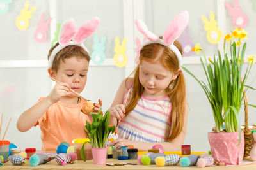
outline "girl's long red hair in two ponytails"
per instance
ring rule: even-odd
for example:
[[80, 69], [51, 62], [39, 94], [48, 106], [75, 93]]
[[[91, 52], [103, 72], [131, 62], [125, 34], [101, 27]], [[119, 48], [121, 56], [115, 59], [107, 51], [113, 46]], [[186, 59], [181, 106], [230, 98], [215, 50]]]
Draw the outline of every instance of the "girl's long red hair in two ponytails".
[[[182, 46], [179, 41], [175, 41], [174, 45], [179, 49], [182, 54]], [[142, 60], [147, 60], [148, 62], [156, 62], [160, 61], [166, 69], [172, 71], [173, 73], [177, 72], [179, 69], [179, 60], [177, 59], [175, 53], [170, 50], [170, 48], [160, 45], [157, 43], [149, 44], [143, 46], [140, 50], [140, 62]], [[143, 94], [144, 87], [141, 85], [139, 80], [139, 69], [140, 64], [134, 70], [134, 82], [133, 82], [133, 90], [131, 94], [131, 101], [125, 108], [126, 113], [129, 114], [136, 104], [138, 103], [141, 95]], [[169, 88], [169, 86], [172, 88]], [[172, 134], [166, 136], [168, 141], [175, 139], [179, 136], [180, 132], [182, 132], [185, 115], [186, 115], [186, 85], [184, 74], [180, 71], [179, 76], [175, 80], [172, 80], [168, 87], [165, 89], [166, 94], [170, 97], [170, 101], [172, 103], [172, 118], [170, 117], [170, 122], [172, 122]]]

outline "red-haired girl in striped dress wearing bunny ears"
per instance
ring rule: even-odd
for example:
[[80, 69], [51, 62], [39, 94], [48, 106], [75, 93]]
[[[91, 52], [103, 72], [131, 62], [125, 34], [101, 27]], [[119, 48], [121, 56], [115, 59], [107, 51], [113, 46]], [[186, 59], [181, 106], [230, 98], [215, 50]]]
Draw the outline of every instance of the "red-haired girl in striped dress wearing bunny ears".
[[140, 50], [140, 64], [134, 70], [134, 78], [122, 81], [109, 108], [111, 124], [122, 118], [118, 139], [112, 145], [134, 145], [138, 150], [148, 150], [160, 144], [166, 151], [180, 150], [188, 115], [181, 71], [182, 47], [175, 39], [187, 24], [188, 12], [184, 11], [168, 25], [162, 40], [136, 20], [138, 30], [149, 40]]

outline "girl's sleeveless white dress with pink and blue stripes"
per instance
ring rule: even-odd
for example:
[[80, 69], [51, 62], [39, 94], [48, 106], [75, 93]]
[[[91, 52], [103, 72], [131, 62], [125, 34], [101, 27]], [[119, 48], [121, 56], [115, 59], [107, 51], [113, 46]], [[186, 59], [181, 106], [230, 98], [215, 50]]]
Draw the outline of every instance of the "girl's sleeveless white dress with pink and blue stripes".
[[[128, 91], [128, 90], [127, 90]], [[130, 94], [132, 87], [130, 87]], [[127, 96], [127, 92], [124, 96]], [[127, 104], [129, 103], [127, 100]], [[168, 96], [148, 99], [141, 96], [135, 108], [118, 126], [118, 138], [141, 142], [163, 142], [170, 133], [172, 105]]]

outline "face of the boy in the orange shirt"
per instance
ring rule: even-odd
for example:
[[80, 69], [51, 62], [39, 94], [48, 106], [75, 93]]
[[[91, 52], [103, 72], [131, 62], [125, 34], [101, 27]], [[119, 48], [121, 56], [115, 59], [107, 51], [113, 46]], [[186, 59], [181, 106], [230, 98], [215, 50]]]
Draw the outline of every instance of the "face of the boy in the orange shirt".
[[[63, 83], [68, 83], [72, 90], [81, 93], [86, 85], [87, 73], [88, 61], [84, 58], [74, 56], [65, 59], [65, 62], [61, 60], [55, 78]], [[69, 97], [74, 96], [76, 94], [72, 93]]]

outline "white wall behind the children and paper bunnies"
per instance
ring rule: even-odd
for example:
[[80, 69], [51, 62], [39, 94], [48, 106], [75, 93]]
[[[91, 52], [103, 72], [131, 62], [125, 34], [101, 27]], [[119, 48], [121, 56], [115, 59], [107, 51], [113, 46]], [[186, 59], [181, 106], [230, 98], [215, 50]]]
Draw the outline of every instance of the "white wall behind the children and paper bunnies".
[[[12, 122], [5, 139], [8, 139], [23, 149], [36, 147], [36, 149], [40, 150], [40, 129], [39, 127], [33, 127], [28, 132], [19, 132], [16, 129], [17, 118], [19, 118], [19, 115], [24, 110], [32, 106], [39, 97], [47, 96], [52, 86], [52, 81], [47, 77], [46, 67], [47, 51], [51, 47], [52, 37], [49, 37], [45, 43], [37, 43], [33, 38], [33, 32], [36, 29], [40, 15], [44, 12], [45, 17], [49, 17], [49, 6], [51, 6], [49, 2], [50, 1], [29, 1], [29, 8], [36, 6], [36, 11], [32, 14], [30, 26], [26, 31], [20, 31], [15, 26], [15, 19], [20, 15], [20, 10], [23, 8], [25, 0], [13, 1], [8, 13], [0, 13], [1, 23], [4, 23], [0, 25], [0, 113], [4, 113], [2, 136], [9, 118], [12, 117]], [[232, 1], [230, 2], [232, 3]], [[256, 26], [256, 7], [253, 6], [252, 1], [248, 0], [239, 1], [239, 3], [242, 4], [243, 11], [249, 17], [249, 22], [246, 27], [246, 31], [249, 32], [246, 55], [255, 55], [254, 40], [256, 33], [254, 30]], [[143, 36], [138, 34], [135, 27], [131, 27], [132, 23], [130, 20], [134, 20], [136, 17], [141, 18], [145, 20], [148, 27], [153, 32], [161, 35], [168, 22], [170, 22], [177, 13], [182, 10], [188, 10], [190, 14], [189, 30], [193, 43], [200, 43], [200, 46], [205, 49], [207, 55], [213, 55], [218, 48], [218, 45], [212, 45], [207, 41], [207, 32], [204, 31], [204, 23], [200, 18], [201, 15], [205, 15], [209, 18], [210, 11], [216, 13], [216, 19], [220, 18], [218, 17], [220, 4], [218, 6], [214, 0], [198, 0], [196, 3], [195, 1], [188, 0], [180, 0], [179, 2], [174, 0], [111, 0], [108, 1], [108, 3], [100, 0], [74, 0], [56, 1], [56, 4], [58, 10], [54, 11], [56, 13], [56, 18], [53, 18], [55, 23], [63, 22], [63, 20], [70, 17], [77, 20], [77, 25], [82, 24], [84, 21], [94, 16], [99, 16], [102, 21], [96, 34], [100, 38], [105, 35], [107, 36], [106, 57], [108, 58], [108, 64], [95, 66], [95, 64], [91, 63], [92, 65], [88, 73], [88, 83], [81, 95], [93, 101], [97, 101], [99, 98], [102, 99], [104, 110], [112, 103], [116, 89], [125, 78], [125, 75], [127, 75], [127, 70], [130, 71], [132, 66], [130, 63], [129, 66], [125, 68], [118, 68], [113, 64], [111, 58], [115, 55], [115, 52], [113, 52], [115, 36], [123, 39], [125, 36], [129, 35], [127, 37], [127, 43], [129, 43], [127, 56], [131, 62], [135, 55], [133, 51], [135, 49], [135, 36], [139, 36], [141, 40], [143, 39]], [[186, 8], [184, 7], [185, 4]], [[132, 6], [134, 6], [134, 8], [132, 8]], [[140, 10], [138, 6], [142, 6], [143, 8]], [[222, 25], [227, 25], [224, 29], [233, 29], [227, 11], [223, 11], [222, 13], [225, 14], [223, 17], [227, 18], [227, 20], [221, 20], [221, 22], [225, 21]], [[56, 25], [51, 25], [52, 30], [54, 30], [55, 27]], [[93, 38], [89, 38], [85, 42], [90, 52], [92, 52], [92, 43]], [[198, 63], [198, 57], [195, 56], [185, 57], [184, 66], [200, 80], [205, 80], [204, 71]], [[26, 64], [28, 64], [28, 66], [24, 67], [24, 64], [22, 64], [20, 60], [27, 61]], [[40, 66], [36, 67], [35, 64], [29, 65], [31, 61], [35, 61], [35, 63]], [[18, 66], [14, 66], [15, 63], [17, 63]], [[249, 82], [252, 82], [253, 87], [256, 87], [255, 71], [254, 67], [249, 80]], [[188, 74], [184, 74], [190, 108], [185, 143], [190, 144], [193, 151], [207, 151], [209, 150], [207, 132], [210, 132], [214, 126], [211, 106], [198, 83]], [[248, 91], [248, 101], [250, 104], [256, 104], [255, 93], [256, 92], [253, 90]], [[243, 122], [243, 110], [241, 110], [240, 116], [241, 122]], [[249, 124], [256, 124], [255, 108], [249, 107], [249, 119]]]

